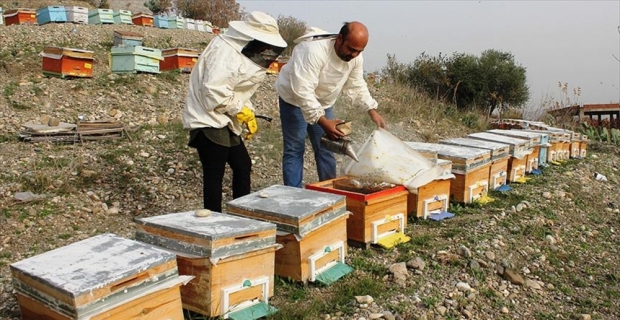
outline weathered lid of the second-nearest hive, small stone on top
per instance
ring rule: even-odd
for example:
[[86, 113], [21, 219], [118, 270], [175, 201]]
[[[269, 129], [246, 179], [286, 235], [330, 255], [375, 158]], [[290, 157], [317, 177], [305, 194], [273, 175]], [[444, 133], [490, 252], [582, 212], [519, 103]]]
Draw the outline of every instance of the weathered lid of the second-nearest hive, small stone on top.
[[136, 239], [182, 253], [224, 258], [275, 244], [276, 225], [212, 212], [194, 211], [136, 219]]

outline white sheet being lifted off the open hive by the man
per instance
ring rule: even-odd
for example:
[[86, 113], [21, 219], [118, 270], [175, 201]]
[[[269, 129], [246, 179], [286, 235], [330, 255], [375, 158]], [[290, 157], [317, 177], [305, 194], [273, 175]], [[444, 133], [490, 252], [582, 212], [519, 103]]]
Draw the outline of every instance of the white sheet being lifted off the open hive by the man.
[[344, 174], [405, 186], [410, 192], [439, 178], [444, 170], [384, 129], [373, 131]]

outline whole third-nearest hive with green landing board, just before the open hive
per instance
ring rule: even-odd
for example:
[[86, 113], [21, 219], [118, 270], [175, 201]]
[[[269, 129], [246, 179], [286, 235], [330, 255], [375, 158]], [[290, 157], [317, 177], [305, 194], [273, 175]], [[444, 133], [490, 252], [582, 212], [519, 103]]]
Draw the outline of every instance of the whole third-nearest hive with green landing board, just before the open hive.
[[314, 190], [273, 185], [226, 204], [227, 213], [277, 225], [275, 274], [301, 282], [332, 283], [351, 268], [346, 199]]

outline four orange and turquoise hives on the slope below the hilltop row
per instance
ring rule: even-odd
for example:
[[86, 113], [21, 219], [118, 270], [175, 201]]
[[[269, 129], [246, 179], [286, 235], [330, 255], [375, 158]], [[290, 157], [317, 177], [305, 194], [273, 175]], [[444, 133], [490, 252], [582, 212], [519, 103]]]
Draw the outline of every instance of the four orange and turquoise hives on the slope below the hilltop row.
[[[109, 55], [109, 69], [114, 73], [159, 73], [179, 70], [191, 72], [198, 60], [197, 49], [156, 49], [142, 46], [143, 36], [128, 31], [114, 31], [114, 46]], [[49, 76], [93, 76], [94, 52], [90, 50], [48, 46], [40, 53], [43, 74]]]

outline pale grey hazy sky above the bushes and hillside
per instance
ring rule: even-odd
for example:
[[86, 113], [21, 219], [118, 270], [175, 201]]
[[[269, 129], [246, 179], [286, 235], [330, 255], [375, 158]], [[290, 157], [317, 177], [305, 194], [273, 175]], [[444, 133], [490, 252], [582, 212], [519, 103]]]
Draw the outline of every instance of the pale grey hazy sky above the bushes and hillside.
[[365, 69], [379, 71], [394, 54], [511, 52], [527, 69], [530, 104], [560, 99], [558, 82], [580, 87], [581, 103], [620, 102], [620, 1], [259, 1], [246, 11], [293, 16], [338, 32], [358, 20], [370, 31]]

